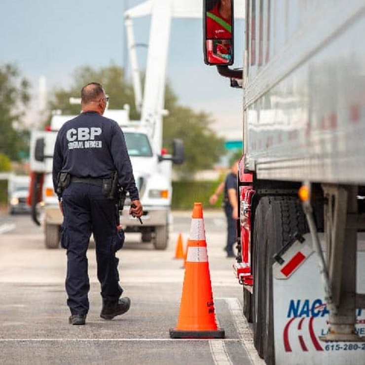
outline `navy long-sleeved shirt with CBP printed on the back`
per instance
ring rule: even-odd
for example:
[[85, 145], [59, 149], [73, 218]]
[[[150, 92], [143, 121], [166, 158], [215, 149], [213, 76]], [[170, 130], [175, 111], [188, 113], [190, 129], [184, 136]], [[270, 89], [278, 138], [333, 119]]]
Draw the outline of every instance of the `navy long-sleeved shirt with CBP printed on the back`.
[[104, 179], [115, 170], [131, 200], [139, 200], [124, 134], [116, 121], [87, 111], [62, 126], [53, 154], [55, 191], [60, 171], [78, 178]]

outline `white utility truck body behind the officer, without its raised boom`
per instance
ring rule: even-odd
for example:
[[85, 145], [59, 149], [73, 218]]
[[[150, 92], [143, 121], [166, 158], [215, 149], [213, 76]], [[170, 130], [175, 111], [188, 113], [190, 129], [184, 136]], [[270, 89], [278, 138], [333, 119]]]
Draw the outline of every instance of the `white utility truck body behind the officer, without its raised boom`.
[[[148, 130], [140, 122], [128, 121], [128, 109], [106, 110], [104, 115], [116, 120], [123, 130], [144, 207], [143, 224], [141, 224], [138, 219], [129, 216], [130, 200], [127, 197], [121, 212], [121, 224], [126, 232], [142, 233], [142, 242], [152, 241], [157, 250], [164, 250], [168, 244], [171, 213], [171, 161], [183, 162], [182, 143], [180, 140], [173, 141], [173, 155], [158, 154], [152, 149]], [[57, 131], [73, 117], [72, 115], [54, 115], [51, 120], [51, 130], [35, 131], [32, 134], [31, 170], [34, 184], [32, 191], [42, 190], [43, 214], [41, 220], [44, 224], [47, 248], [59, 247], [60, 228], [63, 221], [52, 183], [53, 148]], [[39, 183], [40, 181], [42, 183]], [[34, 202], [35, 204], [32, 204], [33, 217], [39, 223], [37, 201]]]

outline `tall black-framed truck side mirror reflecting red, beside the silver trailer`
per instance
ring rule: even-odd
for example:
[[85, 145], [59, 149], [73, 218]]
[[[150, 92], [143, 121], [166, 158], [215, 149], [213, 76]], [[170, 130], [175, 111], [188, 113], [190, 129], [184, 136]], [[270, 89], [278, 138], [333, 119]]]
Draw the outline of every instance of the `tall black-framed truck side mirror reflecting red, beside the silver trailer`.
[[233, 65], [233, 0], [204, 0], [204, 62]]

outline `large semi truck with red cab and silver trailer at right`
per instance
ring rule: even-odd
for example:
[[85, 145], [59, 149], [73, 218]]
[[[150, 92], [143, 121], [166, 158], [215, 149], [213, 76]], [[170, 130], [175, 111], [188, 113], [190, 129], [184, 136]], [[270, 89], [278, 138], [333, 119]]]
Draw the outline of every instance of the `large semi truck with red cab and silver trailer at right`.
[[365, 3], [242, 0], [245, 29], [217, 3], [204, 0], [204, 58], [242, 92], [233, 268], [257, 352], [364, 365]]

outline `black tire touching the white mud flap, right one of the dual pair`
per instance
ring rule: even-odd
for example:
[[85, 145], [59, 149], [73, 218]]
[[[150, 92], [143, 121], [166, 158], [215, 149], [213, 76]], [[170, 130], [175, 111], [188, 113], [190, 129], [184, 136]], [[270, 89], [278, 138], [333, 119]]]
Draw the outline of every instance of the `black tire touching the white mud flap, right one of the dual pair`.
[[273, 308], [273, 256], [292, 240], [295, 233], [308, 232], [301, 206], [294, 198], [271, 202], [267, 212], [264, 240], [267, 242], [266, 272], [263, 284], [266, 292], [265, 329], [262, 334], [263, 358], [267, 365], [275, 364], [274, 308]]

